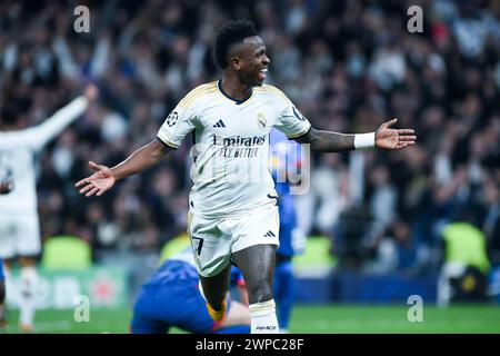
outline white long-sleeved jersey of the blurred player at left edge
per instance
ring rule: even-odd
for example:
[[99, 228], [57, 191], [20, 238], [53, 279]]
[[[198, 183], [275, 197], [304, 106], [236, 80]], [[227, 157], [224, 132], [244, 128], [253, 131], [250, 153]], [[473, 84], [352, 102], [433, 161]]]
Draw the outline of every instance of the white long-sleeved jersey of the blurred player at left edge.
[[0, 214], [18, 215], [37, 211], [37, 179], [34, 159], [43, 146], [77, 119], [89, 101], [80, 97], [57, 111], [39, 126], [0, 131], [0, 172], [13, 179], [14, 188], [0, 195]]

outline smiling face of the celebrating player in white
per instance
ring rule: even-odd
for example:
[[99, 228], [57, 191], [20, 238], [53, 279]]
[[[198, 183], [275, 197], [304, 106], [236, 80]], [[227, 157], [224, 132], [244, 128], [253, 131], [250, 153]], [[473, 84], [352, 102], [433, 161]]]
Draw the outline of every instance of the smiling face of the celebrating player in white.
[[239, 50], [239, 75], [242, 83], [262, 86], [270, 60], [259, 36], [246, 38]]

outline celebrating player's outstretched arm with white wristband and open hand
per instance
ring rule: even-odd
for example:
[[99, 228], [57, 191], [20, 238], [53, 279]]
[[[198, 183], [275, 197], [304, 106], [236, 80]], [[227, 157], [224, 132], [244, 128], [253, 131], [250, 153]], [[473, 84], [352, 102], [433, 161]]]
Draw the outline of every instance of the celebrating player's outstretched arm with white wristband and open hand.
[[299, 137], [300, 144], [310, 144], [311, 148], [321, 152], [342, 152], [360, 148], [377, 147], [381, 149], [401, 149], [416, 144], [417, 136], [412, 129], [391, 129], [398, 119], [383, 122], [376, 132], [346, 135], [321, 131], [311, 128]]

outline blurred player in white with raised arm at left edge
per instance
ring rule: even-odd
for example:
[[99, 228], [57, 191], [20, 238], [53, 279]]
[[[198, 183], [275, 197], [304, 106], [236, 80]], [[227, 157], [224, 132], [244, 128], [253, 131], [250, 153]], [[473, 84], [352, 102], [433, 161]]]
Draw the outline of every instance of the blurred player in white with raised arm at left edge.
[[0, 174], [6, 177], [0, 195], [0, 258], [6, 264], [6, 281], [14, 258], [20, 265], [20, 316], [23, 332], [33, 330], [37, 257], [41, 251], [37, 211], [34, 159], [42, 148], [68, 125], [79, 118], [97, 97], [89, 85], [84, 96], [76, 98], [52, 117], [32, 128], [22, 128], [21, 108], [9, 107], [4, 98], [0, 117]]

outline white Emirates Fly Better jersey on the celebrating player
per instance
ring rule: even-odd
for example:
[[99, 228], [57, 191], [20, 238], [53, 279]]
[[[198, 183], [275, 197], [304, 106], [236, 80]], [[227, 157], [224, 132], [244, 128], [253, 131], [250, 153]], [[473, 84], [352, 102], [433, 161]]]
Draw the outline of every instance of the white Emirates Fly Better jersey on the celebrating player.
[[203, 217], [228, 217], [266, 205], [278, 195], [268, 167], [269, 135], [274, 127], [297, 138], [311, 127], [276, 87], [253, 88], [237, 101], [220, 80], [191, 90], [167, 117], [158, 139], [177, 148], [192, 134], [191, 210]]

